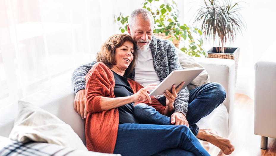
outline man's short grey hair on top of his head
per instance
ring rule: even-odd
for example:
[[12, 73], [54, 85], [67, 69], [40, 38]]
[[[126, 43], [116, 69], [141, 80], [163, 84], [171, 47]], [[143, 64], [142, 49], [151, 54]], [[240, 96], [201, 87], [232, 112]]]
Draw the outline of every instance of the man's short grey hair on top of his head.
[[130, 28], [133, 27], [136, 17], [140, 14], [142, 15], [142, 18], [144, 21], [151, 21], [154, 26], [154, 18], [152, 16], [152, 13], [149, 12], [149, 10], [141, 8], [141, 9], [135, 9], [133, 10], [133, 12], [131, 12], [130, 18], [128, 19], [128, 26]]

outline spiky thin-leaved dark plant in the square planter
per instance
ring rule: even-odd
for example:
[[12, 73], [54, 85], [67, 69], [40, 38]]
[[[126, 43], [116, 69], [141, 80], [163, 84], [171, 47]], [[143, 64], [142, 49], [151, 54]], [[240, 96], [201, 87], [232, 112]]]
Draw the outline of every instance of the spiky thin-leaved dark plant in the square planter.
[[239, 13], [241, 10], [239, 2], [204, 0], [204, 4], [197, 10], [194, 23], [199, 25], [202, 23], [201, 30], [206, 39], [212, 38], [215, 42], [218, 39], [219, 45], [221, 43], [221, 52], [224, 53], [223, 44], [226, 41], [233, 42], [236, 33], [242, 33], [242, 29], [245, 29], [245, 21]]

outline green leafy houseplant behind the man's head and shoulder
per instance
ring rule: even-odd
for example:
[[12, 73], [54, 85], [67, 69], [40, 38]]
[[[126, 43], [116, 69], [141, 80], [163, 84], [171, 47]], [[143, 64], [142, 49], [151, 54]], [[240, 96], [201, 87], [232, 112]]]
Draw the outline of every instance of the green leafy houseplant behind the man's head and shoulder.
[[[208, 56], [202, 48], [202, 31], [196, 27], [180, 24], [177, 21], [178, 9], [174, 0], [159, 1], [145, 0], [142, 8], [149, 10], [154, 17], [154, 35], [159, 38], [171, 40], [177, 48], [179, 41], [184, 42], [184, 47], [180, 48], [190, 56]], [[122, 33], [127, 31], [128, 17], [122, 13], [114, 15], [114, 22], [119, 24]], [[187, 39], [187, 40], [186, 40]]]

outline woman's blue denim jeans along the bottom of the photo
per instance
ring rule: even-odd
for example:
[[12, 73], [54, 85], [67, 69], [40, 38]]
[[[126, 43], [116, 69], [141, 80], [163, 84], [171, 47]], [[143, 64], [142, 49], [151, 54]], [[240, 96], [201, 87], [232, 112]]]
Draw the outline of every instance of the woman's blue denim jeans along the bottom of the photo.
[[209, 155], [185, 125], [129, 123], [119, 124], [114, 153], [122, 156]]

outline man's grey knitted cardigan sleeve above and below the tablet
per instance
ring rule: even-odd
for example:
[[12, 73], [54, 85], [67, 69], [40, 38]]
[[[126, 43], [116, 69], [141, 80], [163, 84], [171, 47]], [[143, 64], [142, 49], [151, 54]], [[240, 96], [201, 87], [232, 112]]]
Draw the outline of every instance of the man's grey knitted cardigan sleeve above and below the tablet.
[[[179, 63], [178, 55], [176, 53], [176, 48], [171, 42], [171, 51], [168, 56], [168, 66], [169, 66], [169, 73], [173, 70], [183, 69]], [[185, 87], [181, 91], [178, 92], [176, 99], [174, 100], [174, 111], [181, 112], [185, 116], [188, 111], [188, 101], [189, 101], [190, 91]]]

